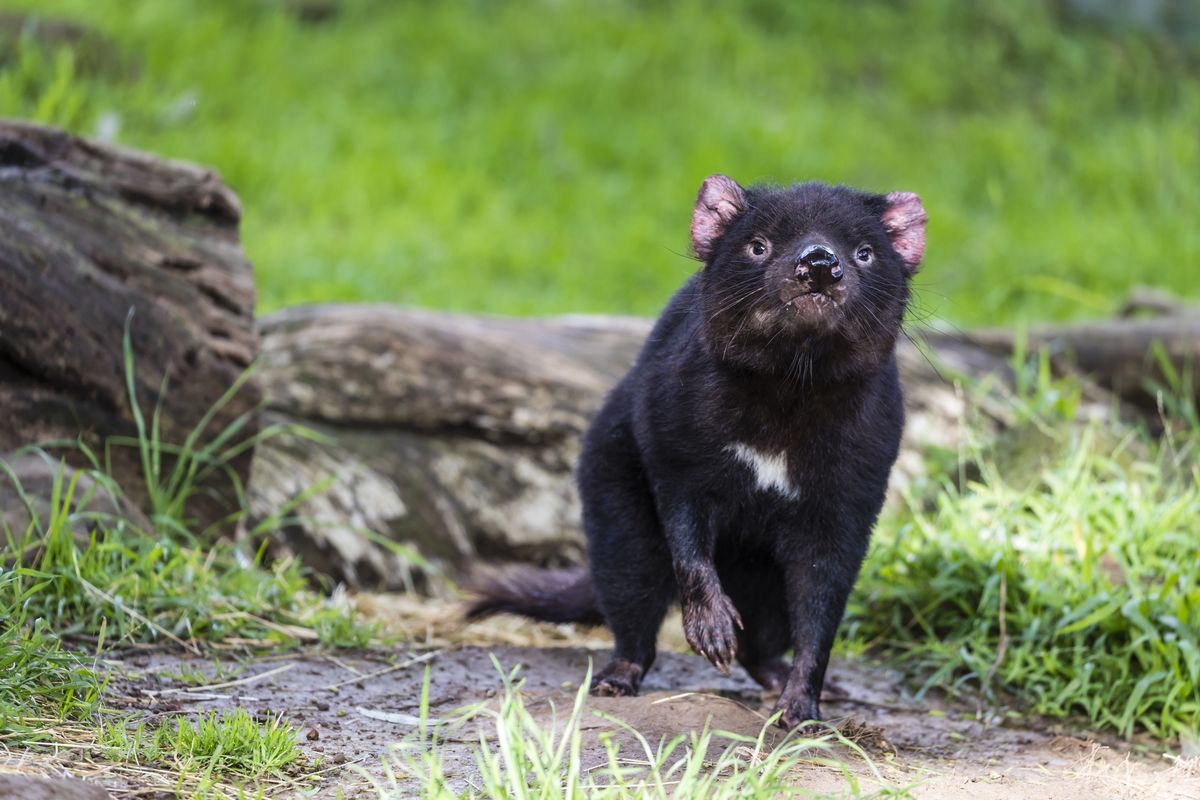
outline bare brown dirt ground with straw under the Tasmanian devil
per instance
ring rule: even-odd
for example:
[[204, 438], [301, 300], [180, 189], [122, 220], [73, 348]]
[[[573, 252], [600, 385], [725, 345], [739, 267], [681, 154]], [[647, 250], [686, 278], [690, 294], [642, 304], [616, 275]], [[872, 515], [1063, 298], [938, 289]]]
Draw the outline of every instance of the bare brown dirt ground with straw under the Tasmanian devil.
[[[229, 656], [220, 668], [212, 656], [131, 652], [110, 664], [107, 704], [151, 718], [234, 706], [282, 715], [301, 729], [305, 753], [322, 762], [322, 781], [306, 796], [335, 798], [341, 792], [348, 799], [376, 798], [374, 781], [385, 775], [390, 746], [414, 733], [426, 664], [431, 716], [450, 717], [460, 706], [494, 698], [502, 686], [494, 655], [505, 669], [521, 666], [527, 705], [548, 722], [554, 718], [552, 706], [558, 718], [570, 708], [589, 658], [602, 662], [607, 655], [600, 633], [569, 626], [503, 620], [463, 627], [437, 603], [382, 597], [365, 604], [365, 612], [389, 619], [409, 642], [421, 644], [392, 654], [284, 654], [251, 662]], [[672, 625], [668, 620], [667, 628]], [[679, 643], [667, 637], [666, 644]], [[197, 685], [197, 673], [214, 678]], [[193, 676], [185, 682], [180, 674]], [[1042, 720], [980, 714], [944, 699], [916, 700], [893, 672], [862, 660], [836, 661], [829, 675], [824, 715], [874, 764], [850, 748], [838, 752], [864, 794], [890, 784], [918, 798], [1200, 800], [1198, 758], [1175, 758], [1152, 746], [1099, 739]], [[722, 676], [697, 656], [667, 651], [647, 676], [642, 696], [592, 698], [589, 708], [624, 720], [656, 744], [706, 723], [754, 736], [769, 702], [739, 669]], [[584, 722], [586, 765], [604, 760], [598, 734], [611, 729], [599, 717]], [[470, 742], [476, 738], [467, 729], [449, 734], [445, 756], [452, 782], [470, 782]], [[71, 769], [77, 756], [65, 751], [55, 771], [98, 780], [116, 796], [155, 796], [155, 784], [167, 788], [163, 777], [151, 772], [139, 776], [95, 764]], [[7, 765], [14, 759], [29, 765], [20, 753], [10, 753]], [[0, 771], [5, 765], [0, 760]], [[847, 792], [846, 777], [827, 765], [802, 765], [796, 775], [815, 793]], [[397, 796], [418, 793], [414, 784], [401, 786]], [[287, 794], [292, 789], [281, 787], [271, 796]]]

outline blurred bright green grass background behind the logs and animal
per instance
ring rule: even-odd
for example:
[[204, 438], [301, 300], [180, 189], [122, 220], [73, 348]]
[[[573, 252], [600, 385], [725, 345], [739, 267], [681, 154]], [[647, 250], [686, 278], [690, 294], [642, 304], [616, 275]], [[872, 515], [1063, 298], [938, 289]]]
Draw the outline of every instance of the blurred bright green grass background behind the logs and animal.
[[260, 311], [653, 314], [724, 172], [920, 193], [931, 325], [1076, 319], [1200, 294], [1195, 14], [1120, 5], [0, 0], [0, 114], [218, 169]]

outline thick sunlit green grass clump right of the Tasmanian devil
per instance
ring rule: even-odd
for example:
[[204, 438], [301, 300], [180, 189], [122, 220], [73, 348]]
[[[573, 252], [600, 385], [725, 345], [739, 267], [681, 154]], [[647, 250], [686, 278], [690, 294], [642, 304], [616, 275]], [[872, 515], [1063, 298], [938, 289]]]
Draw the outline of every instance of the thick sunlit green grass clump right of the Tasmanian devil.
[[1032, 459], [977, 450], [977, 477], [936, 480], [881, 524], [846, 638], [922, 691], [1194, 738], [1200, 428], [1169, 420], [1154, 441], [1044, 416], [1074, 415], [1064, 395], [1078, 387], [1022, 404], [1033, 411], [1015, 437], [1036, 443]]

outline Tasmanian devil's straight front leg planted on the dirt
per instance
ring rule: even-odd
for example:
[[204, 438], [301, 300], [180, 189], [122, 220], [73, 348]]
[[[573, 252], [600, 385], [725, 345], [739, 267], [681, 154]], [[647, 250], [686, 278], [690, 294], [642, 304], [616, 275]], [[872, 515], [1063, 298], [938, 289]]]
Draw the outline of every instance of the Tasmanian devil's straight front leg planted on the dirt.
[[865, 537], [862, 547], [847, 542], [826, 545], [805, 547], [791, 554], [784, 565], [796, 654], [774, 709], [782, 711], [779, 723], [785, 728], [821, 718], [821, 688], [829, 651], [858, 575]]

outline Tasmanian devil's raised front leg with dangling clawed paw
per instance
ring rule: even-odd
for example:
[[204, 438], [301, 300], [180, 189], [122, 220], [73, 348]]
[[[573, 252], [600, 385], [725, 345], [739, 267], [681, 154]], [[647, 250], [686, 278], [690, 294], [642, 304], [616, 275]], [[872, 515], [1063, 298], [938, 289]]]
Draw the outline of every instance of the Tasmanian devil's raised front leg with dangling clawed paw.
[[715, 535], [698, 522], [690, 504], [674, 505], [664, 519], [679, 587], [684, 637], [692, 650], [728, 673], [738, 651], [742, 618], [721, 589], [713, 565]]

